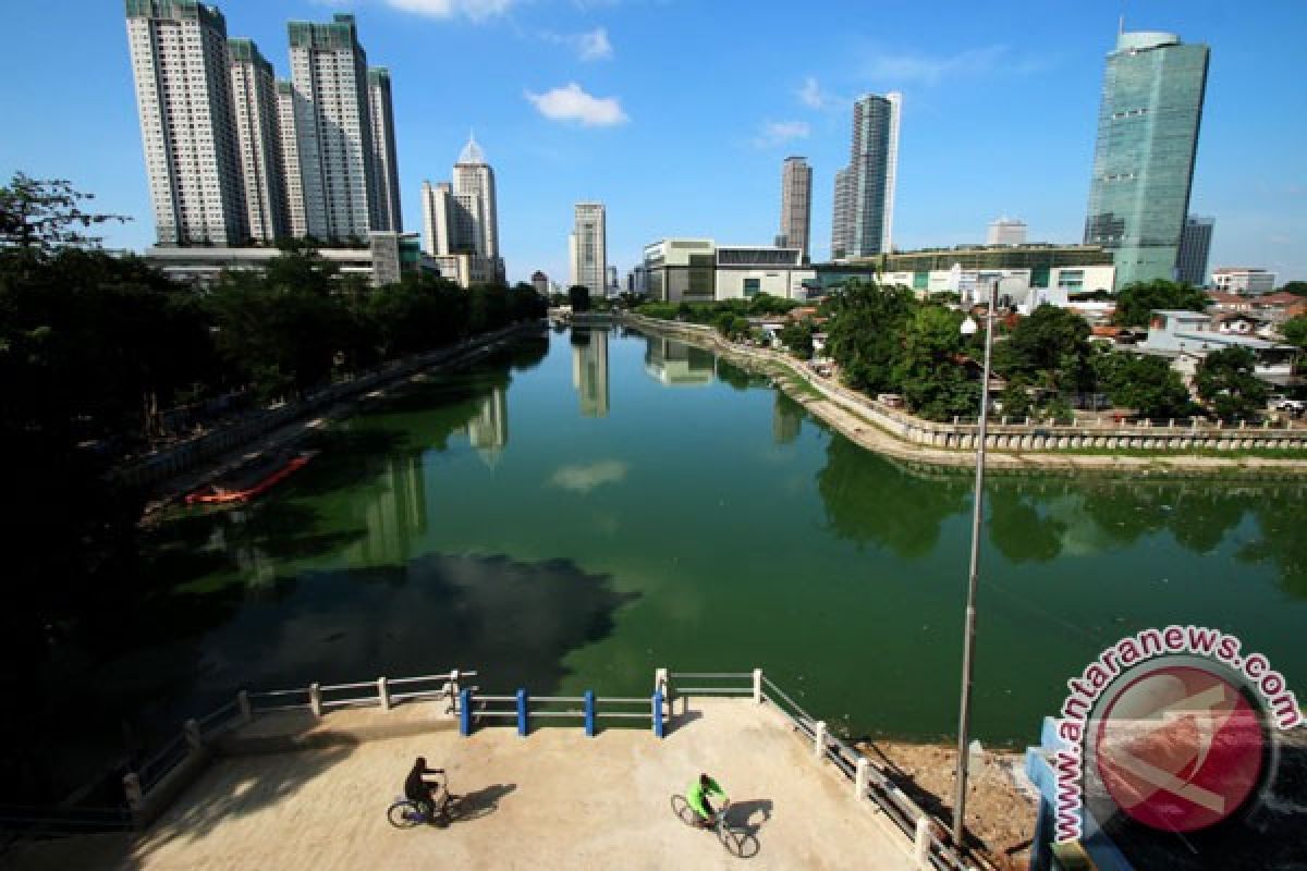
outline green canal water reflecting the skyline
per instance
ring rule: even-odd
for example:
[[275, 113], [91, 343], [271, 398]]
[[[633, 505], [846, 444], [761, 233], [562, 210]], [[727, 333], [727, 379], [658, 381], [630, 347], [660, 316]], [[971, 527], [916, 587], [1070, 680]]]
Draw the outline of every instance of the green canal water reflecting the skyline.
[[[156, 571], [176, 582], [141, 622], [167, 631], [101, 663], [101, 692], [169, 720], [238, 687], [454, 666], [537, 695], [758, 666], [855, 735], [955, 726], [970, 478], [864, 452], [707, 351], [555, 333], [375, 402], [320, 448], [244, 512], [162, 526]], [[1035, 740], [1067, 678], [1157, 624], [1235, 632], [1304, 695], [1303, 487], [988, 494], [982, 740]]]

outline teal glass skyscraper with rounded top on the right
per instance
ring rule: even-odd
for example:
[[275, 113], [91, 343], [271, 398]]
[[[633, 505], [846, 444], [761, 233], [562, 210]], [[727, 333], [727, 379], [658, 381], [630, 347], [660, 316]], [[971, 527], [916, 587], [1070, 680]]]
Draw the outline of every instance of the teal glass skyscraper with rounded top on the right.
[[1208, 47], [1121, 33], [1107, 55], [1085, 244], [1116, 260], [1116, 286], [1174, 278], [1189, 210]]

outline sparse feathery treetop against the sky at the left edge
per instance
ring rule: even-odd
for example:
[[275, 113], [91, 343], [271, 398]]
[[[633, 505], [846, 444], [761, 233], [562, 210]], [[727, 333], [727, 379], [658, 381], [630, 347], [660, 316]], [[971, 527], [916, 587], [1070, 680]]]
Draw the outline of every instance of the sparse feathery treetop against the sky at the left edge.
[[82, 230], [108, 221], [131, 221], [118, 214], [82, 212], [78, 204], [93, 198], [65, 179], [33, 179], [14, 172], [8, 187], [0, 188], [0, 249], [50, 255], [60, 248], [95, 245], [99, 238]]

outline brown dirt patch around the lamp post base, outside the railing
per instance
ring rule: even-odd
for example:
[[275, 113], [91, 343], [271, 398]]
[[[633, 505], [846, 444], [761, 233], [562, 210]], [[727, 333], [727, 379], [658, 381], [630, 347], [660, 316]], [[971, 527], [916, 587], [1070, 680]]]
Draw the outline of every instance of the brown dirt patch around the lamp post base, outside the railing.
[[[921, 810], [953, 824], [955, 748], [886, 740], [863, 742], [857, 748]], [[968, 844], [1001, 871], [1025, 871], [1030, 862], [1039, 807], [1018, 785], [1025, 781], [1023, 768], [1022, 753], [984, 751], [967, 773]]]

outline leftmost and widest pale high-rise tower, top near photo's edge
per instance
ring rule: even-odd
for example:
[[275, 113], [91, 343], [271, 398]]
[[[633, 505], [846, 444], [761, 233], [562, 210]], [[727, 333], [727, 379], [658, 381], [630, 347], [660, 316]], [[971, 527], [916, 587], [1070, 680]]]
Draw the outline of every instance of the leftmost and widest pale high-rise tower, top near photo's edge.
[[127, 0], [127, 40], [158, 243], [243, 243], [222, 13], [195, 0]]

